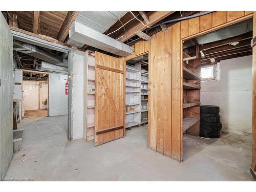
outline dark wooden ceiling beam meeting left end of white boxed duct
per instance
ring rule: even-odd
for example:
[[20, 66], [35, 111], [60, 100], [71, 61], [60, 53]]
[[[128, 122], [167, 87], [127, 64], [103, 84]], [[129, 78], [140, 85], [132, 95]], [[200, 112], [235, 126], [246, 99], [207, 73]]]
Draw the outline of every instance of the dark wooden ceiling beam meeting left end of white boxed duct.
[[60, 42], [65, 41], [65, 39], [69, 35], [69, 28], [70, 28], [71, 24], [74, 22], [74, 20], [78, 14], [79, 14], [79, 11], [69, 11], [67, 13], [67, 16], [65, 17], [65, 19], [60, 27], [60, 30], [58, 32], [57, 38]]

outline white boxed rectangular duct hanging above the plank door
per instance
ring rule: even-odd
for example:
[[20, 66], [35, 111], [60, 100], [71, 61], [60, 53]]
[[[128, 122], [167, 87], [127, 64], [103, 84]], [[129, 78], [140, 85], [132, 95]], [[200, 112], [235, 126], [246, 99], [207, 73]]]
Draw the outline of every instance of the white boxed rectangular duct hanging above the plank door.
[[71, 25], [69, 38], [122, 57], [133, 54], [132, 47], [78, 22]]

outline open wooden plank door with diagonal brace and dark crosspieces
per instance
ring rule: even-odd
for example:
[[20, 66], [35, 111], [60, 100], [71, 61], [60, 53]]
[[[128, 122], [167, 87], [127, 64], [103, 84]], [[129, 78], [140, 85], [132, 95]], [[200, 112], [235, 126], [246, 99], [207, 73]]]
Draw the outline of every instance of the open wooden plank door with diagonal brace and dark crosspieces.
[[95, 52], [95, 146], [125, 134], [125, 62]]

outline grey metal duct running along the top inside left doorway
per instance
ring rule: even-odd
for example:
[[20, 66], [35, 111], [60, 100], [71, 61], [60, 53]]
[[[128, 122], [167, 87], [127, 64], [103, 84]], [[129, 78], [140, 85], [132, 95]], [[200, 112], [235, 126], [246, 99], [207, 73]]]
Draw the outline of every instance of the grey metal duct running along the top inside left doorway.
[[53, 63], [54, 65], [57, 65], [57, 66], [66, 67], [66, 68], [68, 67], [67, 59], [63, 59], [59, 55], [56, 55], [50, 51], [47, 51], [35, 45], [27, 44], [26, 42], [20, 42], [20, 41], [14, 40], [13, 50], [38, 58], [40, 60]]

